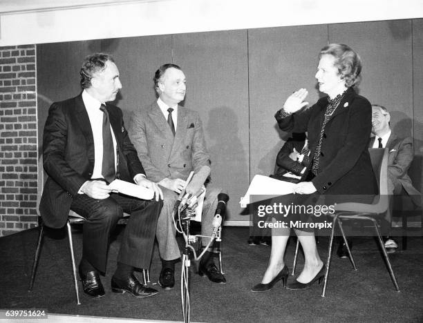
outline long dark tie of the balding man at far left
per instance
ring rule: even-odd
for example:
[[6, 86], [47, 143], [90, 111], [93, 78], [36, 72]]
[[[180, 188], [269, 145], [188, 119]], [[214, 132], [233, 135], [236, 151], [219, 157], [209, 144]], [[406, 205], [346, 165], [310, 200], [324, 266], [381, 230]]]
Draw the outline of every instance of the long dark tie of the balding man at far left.
[[102, 175], [107, 182], [115, 179], [115, 150], [113, 148], [113, 139], [110, 129], [109, 112], [106, 106], [102, 104], [100, 110], [103, 111], [103, 164]]

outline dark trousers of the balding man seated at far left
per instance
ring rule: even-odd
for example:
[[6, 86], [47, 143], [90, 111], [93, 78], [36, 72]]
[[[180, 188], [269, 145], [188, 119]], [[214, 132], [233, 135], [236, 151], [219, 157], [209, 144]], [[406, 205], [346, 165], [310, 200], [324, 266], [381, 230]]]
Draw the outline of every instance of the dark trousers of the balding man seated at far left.
[[118, 262], [149, 268], [162, 201], [145, 201], [112, 193], [107, 199], [78, 194], [71, 210], [86, 218], [83, 224], [82, 257], [98, 271], [106, 272], [111, 231], [123, 213], [131, 213], [120, 246]]

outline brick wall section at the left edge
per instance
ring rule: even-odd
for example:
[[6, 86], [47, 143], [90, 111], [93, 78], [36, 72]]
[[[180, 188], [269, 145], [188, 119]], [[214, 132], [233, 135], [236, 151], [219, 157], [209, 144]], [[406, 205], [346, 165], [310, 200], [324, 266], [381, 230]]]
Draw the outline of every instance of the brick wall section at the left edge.
[[0, 47], [0, 236], [37, 225], [35, 45]]

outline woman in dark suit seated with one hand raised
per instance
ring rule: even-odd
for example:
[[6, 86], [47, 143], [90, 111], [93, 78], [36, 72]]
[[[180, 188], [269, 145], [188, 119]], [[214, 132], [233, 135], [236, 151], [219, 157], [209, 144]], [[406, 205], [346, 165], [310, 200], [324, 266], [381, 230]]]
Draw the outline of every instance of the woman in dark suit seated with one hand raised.
[[[344, 44], [332, 43], [319, 53], [315, 75], [319, 90], [325, 93], [310, 108], [305, 102], [308, 91], [301, 88], [292, 93], [283, 108], [276, 112], [279, 128], [303, 133], [308, 131], [310, 159], [306, 180], [294, 188], [302, 200], [319, 195], [368, 195], [377, 193], [377, 182], [368, 154], [368, 138], [372, 128], [372, 108], [368, 100], [357, 95], [353, 87], [359, 81], [361, 60], [357, 53]], [[295, 202], [301, 201], [298, 195]], [[295, 215], [292, 215], [294, 217]], [[312, 220], [312, 219], [310, 219]], [[303, 247], [305, 264], [297, 280], [288, 289], [308, 288], [324, 275], [325, 265], [320, 260], [310, 232], [295, 230]], [[270, 291], [274, 284], [288, 278], [283, 255], [290, 228], [272, 231], [270, 261], [260, 284], [254, 292]]]

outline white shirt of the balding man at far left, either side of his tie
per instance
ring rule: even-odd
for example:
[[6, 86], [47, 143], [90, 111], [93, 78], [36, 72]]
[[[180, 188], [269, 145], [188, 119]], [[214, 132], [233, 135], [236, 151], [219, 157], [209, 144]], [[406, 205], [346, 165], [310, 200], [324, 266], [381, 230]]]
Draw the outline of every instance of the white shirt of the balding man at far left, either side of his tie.
[[[90, 118], [91, 130], [93, 130], [94, 139], [94, 169], [91, 178], [104, 178], [102, 175], [102, 164], [103, 164], [103, 115], [104, 112], [100, 110], [102, 102], [98, 101], [94, 97], [88, 94], [86, 90], [82, 92], [82, 101]], [[116, 138], [111, 128], [111, 134], [113, 139], [113, 150], [115, 153], [115, 168], [117, 164], [116, 155]]]

